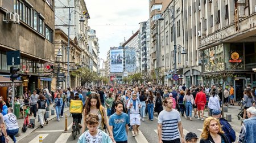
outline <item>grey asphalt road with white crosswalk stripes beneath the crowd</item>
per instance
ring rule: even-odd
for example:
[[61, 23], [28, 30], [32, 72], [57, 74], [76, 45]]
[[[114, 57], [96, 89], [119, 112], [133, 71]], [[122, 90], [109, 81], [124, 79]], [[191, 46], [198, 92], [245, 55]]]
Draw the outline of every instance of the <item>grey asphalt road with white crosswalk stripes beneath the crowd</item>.
[[[42, 136], [43, 142], [47, 142], [47, 143], [77, 142], [78, 137], [81, 134], [77, 136], [76, 140], [73, 140], [72, 116], [69, 116], [69, 111], [66, 111], [64, 114], [68, 115], [68, 131], [67, 132], [64, 132], [65, 116], [64, 118], [60, 118], [60, 122], [57, 122], [56, 118], [54, 118], [51, 121], [49, 121], [48, 125], [44, 125], [44, 128], [36, 129], [35, 131], [33, 131], [32, 133], [24, 137], [19, 142], [20, 143], [25, 143], [25, 142], [36, 143], [36, 142], [39, 142], [39, 136]], [[136, 137], [133, 137], [131, 131], [129, 131], [128, 142], [131, 142], [131, 143], [158, 142], [157, 122], [158, 122], [158, 116], [156, 113], [154, 114], [153, 121], [147, 120], [147, 116], [146, 116], [145, 121], [141, 122], [141, 126], [139, 127], [139, 130], [140, 130], [139, 135], [137, 135]], [[188, 132], [194, 132], [196, 133], [197, 137], [200, 138], [202, 127], [203, 127], [203, 122], [201, 120], [192, 118], [192, 121], [191, 121], [191, 120], [186, 120], [184, 117], [181, 117], [181, 122], [183, 124], [184, 136], [187, 135]], [[238, 135], [239, 135], [238, 132], [240, 128], [233, 126], [233, 129], [236, 131], [236, 136], [238, 138]]]

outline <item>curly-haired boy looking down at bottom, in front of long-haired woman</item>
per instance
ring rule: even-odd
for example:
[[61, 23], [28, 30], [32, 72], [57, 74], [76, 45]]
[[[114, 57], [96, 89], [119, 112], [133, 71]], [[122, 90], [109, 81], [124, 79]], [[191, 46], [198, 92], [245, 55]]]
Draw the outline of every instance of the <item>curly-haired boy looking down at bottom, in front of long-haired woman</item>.
[[101, 129], [97, 128], [99, 125], [98, 115], [89, 114], [88, 116], [86, 116], [85, 122], [88, 130], [82, 133], [77, 143], [93, 143], [93, 142], [113, 143], [108, 134], [101, 131]]

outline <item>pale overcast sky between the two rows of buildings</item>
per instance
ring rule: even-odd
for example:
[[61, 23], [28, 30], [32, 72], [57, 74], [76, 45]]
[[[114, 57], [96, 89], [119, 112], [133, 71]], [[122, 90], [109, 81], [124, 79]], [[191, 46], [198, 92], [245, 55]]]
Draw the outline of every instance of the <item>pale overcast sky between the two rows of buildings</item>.
[[110, 47], [118, 47], [124, 37], [127, 41], [132, 32], [138, 31], [139, 23], [149, 18], [148, 0], [85, 0], [85, 3], [90, 15], [88, 25], [96, 30], [99, 57], [104, 60]]

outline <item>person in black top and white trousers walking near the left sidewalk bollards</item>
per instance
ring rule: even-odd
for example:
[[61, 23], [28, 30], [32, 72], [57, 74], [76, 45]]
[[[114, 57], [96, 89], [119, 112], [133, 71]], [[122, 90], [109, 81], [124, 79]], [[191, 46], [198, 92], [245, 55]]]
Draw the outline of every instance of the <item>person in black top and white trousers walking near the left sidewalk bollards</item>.
[[[47, 102], [46, 97], [44, 97], [42, 94], [39, 96], [38, 101], [36, 102], [36, 107], [38, 109], [40, 127], [44, 128], [44, 114], [46, 114]], [[46, 120], [46, 123], [48, 124], [48, 120]]]

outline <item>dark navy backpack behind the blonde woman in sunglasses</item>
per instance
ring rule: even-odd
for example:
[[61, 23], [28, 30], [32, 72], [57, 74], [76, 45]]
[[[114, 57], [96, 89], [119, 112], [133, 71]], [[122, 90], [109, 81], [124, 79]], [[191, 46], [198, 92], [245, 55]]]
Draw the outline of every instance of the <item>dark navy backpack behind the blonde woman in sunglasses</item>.
[[220, 118], [220, 123], [222, 125], [222, 130], [225, 132], [224, 134], [228, 138], [229, 142], [236, 141], [236, 132], [232, 129], [231, 125], [228, 123], [227, 120]]

